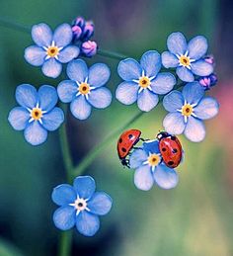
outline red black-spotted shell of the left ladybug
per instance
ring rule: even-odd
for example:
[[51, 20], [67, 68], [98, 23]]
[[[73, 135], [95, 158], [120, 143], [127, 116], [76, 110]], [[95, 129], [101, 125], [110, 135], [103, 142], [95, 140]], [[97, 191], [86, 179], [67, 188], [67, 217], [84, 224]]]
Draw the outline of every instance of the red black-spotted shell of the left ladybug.
[[117, 141], [117, 153], [119, 159], [125, 158], [131, 148], [137, 143], [139, 140], [141, 131], [139, 129], [128, 129], [125, 130]]

